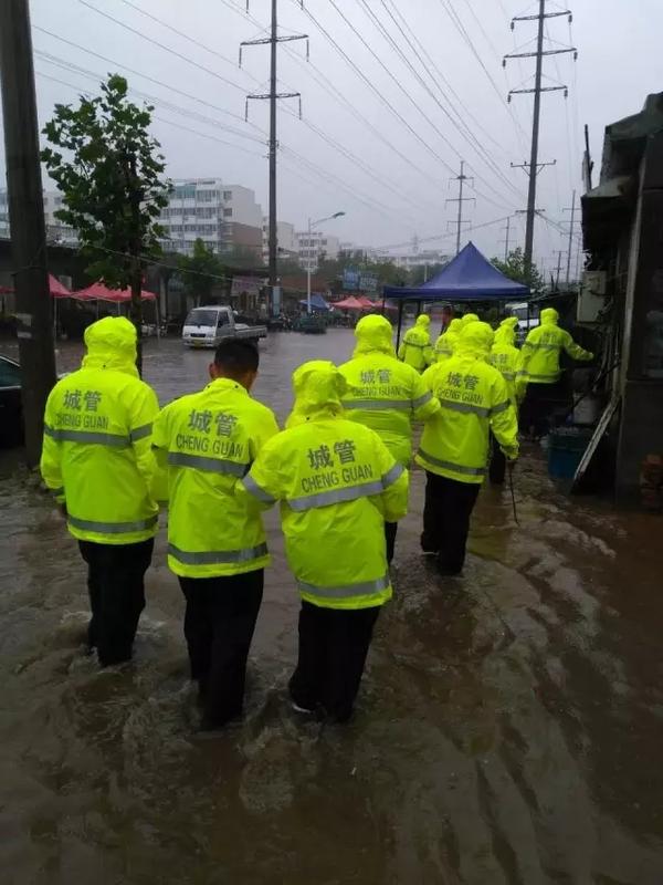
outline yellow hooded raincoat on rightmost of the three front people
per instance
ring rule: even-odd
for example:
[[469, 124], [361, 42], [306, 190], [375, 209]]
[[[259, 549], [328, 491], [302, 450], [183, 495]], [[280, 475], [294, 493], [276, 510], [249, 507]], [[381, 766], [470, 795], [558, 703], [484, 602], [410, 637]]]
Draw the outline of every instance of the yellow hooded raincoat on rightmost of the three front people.
[[408, 471], [380, 437], [344, 417], [346, 382], [324, 361], [293, 375], [296, 421], [270, 439], [238, 483], [256, 507], [281, 501], [285, 552], [299, 593], [324, 608], [369, 608], [391, 596], [385, 521], [404, 517]]

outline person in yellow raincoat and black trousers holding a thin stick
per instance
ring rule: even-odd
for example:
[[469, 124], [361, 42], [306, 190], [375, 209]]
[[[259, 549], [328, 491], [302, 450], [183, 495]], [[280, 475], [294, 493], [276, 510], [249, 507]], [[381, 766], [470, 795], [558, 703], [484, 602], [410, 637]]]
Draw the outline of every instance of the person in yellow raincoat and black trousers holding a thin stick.
[[423, 376], [441, 409], [427, 421], [415, 457], [427, 471], [421, 546], [438, 558], [443, 575], [460, 574], [465, 562], [470, 519], [487, 473], [490, 431], [509, 460], [518, 455], [506, 382], [487, 362], [492, 343], [487, 323], [470, 323], [451, 360]]

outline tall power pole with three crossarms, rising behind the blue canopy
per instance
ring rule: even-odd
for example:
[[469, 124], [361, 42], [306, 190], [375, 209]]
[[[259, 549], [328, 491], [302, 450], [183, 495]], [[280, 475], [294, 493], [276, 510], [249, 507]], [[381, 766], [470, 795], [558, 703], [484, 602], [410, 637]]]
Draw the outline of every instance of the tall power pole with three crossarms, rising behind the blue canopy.
[[544, 92], [564, 92], [565, 98], [568, 97], [568, 87], [561, 84], [552, 86], [544, 86], [544, 58], [546, 55], [561, 55], [564, 53], [573, 53], [573, 60], [578, 58], [578, 51], [575, 46], [564, 46], [561, 49], [544, 49], [544, 31], [547, 19], [557, 19], [562, 15], [568, 17], [569, 23], [572, 22], [573, 15], [570, 10], [560, 12], [546, 12], [546, 0], [539, 0], [539, 11], [536, 15], [517, 15], [512, 20], [512, 31], [515, 30], [517, 21], [536, 21], [538, 23], [536, 52], [512, 52], [504, 56], [503, 65], [506, 67], [508, 59], [536, 59], [536, 71], [534, 76], [534, 88], [519, 88], [512, 90], [508, 94], [511, 102], [514, 95], [534, 94], [534, 114], [532, 124], [532, 155], [528, 164], [529, 173], [529, 188], [527, 191], [527, 227], [525, 231], [525, 267], [532, 267], [532, 252], [534, 248], [534, 220], [536, 217], [536, 178], [544, 165], [538, 162], [538, 142], [539, 142], [539, 127], [541, 116], [541, 93]]

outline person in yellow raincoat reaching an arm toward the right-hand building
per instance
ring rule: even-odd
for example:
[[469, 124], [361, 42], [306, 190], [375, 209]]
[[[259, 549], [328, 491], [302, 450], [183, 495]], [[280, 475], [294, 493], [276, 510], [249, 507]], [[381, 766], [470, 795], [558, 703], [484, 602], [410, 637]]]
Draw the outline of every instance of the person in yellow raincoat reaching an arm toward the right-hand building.
[[523, 404], [523, 427], [535, 436], [550, 427], [551, 413], [566, 398], [559, 357], [565, 351], [571, 360], [589, 362], [593, 354], [580, 347], [570, 333], [558, 325], [554, 308], [541, 311], [540, 324], [523, 344], [523, 369], [527, 373], [527, 396]]

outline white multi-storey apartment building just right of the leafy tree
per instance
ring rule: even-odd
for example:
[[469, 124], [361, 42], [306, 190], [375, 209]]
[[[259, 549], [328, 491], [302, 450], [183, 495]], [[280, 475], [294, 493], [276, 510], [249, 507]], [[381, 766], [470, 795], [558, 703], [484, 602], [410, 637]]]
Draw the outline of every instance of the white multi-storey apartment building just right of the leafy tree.
[[233, 249], [262, 257], [262, 209], [253, 190], [227, 185], [220, 178], [188, 178], [173, 183], [168, 206], [161, 211], [161, 246], [167, 251], [191, 254], [201, 239], [219, 254]]

